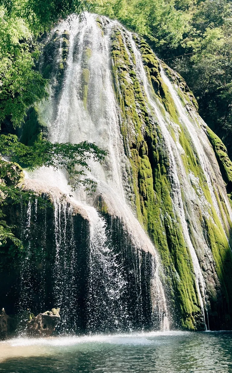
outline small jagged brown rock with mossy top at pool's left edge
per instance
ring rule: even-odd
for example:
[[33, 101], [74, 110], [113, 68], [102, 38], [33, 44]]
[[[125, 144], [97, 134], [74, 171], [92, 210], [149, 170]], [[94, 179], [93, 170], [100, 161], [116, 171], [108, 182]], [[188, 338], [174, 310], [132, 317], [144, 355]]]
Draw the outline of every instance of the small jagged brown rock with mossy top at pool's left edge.
[[52, 308], [51, 311], [32, 317], [27, 323], [27, 333], [30, 336], [51, 336], [60, 320], [59, 311], [60, 308]]

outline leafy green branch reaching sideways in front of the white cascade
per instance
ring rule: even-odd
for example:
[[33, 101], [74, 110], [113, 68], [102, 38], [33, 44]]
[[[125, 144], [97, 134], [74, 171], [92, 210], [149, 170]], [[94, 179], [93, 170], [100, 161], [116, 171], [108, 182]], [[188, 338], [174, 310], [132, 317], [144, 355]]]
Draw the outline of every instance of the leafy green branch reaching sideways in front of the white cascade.
[[33, 145], [25, 145], [18, 141], [16, 135], [0, 135], [2, 156], [10, 157], [13, 162], [27, 166], [29, 170], [36, 167], [53, 167], [55, 170], [65, 168], [69, 174], [72, 189], [84, 185], [85, 190], [95, 191], [96, 183], [86, 176], [85, 169], [91, 171], [88, 160], [102, 162], [107, 152], [87, 141], [79, 144], [58, 143], [37, 140]]

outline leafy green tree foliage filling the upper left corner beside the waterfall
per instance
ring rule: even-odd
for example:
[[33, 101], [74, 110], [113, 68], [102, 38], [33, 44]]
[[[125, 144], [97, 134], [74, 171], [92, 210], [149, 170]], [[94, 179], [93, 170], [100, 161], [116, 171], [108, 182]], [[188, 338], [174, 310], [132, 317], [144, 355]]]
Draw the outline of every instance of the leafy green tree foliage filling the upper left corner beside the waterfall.
[[42, 48], [38, 36], [84, 6], [82, 0], [0, 1], [0, 124], [20, 126], [26, 110], [47, 97], [47, 80], [35, 69]]

